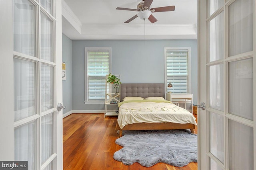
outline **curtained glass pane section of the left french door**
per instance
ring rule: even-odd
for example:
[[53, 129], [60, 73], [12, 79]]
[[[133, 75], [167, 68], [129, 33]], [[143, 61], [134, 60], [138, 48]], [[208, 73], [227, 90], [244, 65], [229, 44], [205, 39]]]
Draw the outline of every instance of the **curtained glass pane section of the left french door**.
[[14, 154], [28, 170], [56, 167], [54, 3], [13, 1]]

